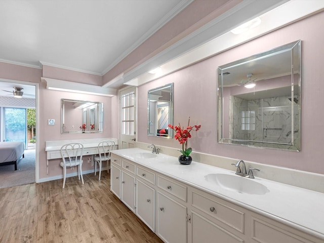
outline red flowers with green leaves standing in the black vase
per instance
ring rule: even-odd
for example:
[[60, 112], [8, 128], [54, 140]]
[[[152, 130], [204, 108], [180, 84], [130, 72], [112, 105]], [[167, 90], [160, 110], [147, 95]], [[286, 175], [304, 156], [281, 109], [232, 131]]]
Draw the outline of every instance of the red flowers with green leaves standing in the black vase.
[[188, 119], [188, 127], [186, 129], [182, 128], [180, 126], [172, 126], [171, 124], [168, 125], [169, 128], [176, 131], [176, 135], [174, 138], [179, 141], [180, 144], [182, 144], [182, 149], [179, 150], [183, 156], [189, 156], [189, 154], [192, 152], [192, 148], [188, 148], [188, 138], [191, 138], [190, 132], [195, 129], [194, 131], [198, 131], [201, 128], [201, 125], [194, 125], [194, 127], [191, 127], [189, 125], [190, 123], [190, 117]]

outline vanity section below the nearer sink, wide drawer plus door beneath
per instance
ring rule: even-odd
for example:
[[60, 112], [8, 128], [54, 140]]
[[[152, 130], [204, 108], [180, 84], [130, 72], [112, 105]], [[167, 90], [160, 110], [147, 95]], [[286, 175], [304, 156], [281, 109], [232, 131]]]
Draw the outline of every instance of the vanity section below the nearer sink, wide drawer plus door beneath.
[[246, 213], [240, 207], [192, 188], [189, 192], [191, 215], [188, 242], [239, 243], [245, 241]]

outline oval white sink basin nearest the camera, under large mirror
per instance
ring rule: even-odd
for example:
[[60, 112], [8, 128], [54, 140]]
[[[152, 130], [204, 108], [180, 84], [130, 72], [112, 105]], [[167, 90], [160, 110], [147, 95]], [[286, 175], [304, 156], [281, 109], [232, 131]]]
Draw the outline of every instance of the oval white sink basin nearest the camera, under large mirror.
[[228, 174], [208, 174], [205, 176], [208, 182], [215, 183], [218, 186], [239, 193], [263, 195], [269, 192], [269, 189], [254, 181], [254, 179], [245, 178], [238, 175]]

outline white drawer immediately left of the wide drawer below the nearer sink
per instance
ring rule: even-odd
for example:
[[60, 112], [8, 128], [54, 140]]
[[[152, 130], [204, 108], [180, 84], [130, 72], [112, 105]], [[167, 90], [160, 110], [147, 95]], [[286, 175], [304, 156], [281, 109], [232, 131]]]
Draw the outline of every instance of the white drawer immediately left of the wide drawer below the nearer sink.
[[171, 178], [157, 176], [157, 187], [169, 192], [185, 202], [187, 201], [187, 187], [181, 185]]

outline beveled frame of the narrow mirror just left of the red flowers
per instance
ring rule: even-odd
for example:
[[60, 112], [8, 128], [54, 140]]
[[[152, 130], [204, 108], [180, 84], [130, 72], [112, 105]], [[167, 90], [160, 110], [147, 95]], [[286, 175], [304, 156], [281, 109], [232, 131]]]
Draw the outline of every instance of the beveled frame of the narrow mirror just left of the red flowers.
[[161, 86], [161, 87], [158, 87], [158, 88], [155, 88], [155, 89], [150, 89], [148, 92], [147, 92], [147, 113], [148, 113], [148, 120], [147, 120], [147, 135], [148, 136], [153, 136], [153, 137], [160, 137], [160, 138], [173, 138], [173, 130], [172, 129], [168, 129], [168, 135], [163, 135], [163, 134], [158, 134], [157, 133], [157, 130], [155, 129], [155, 133], [151, 133], [150, 132], [150, 95], [153, 93], [153, 92], [157, 92], [157, 91], [160, 91], [160, 90], [164, 90], [164, 89], [167, 89], [167, 88], [170, 88], [170, 101], [169, 101], [169, 117], [168, 117], [168, 125], [169, 124], [173, 124], [173, 83], [170, 83], [170, 84], [167, 84], [167, 85], [164, 85], [164, 86]]

